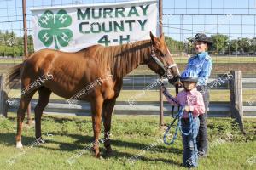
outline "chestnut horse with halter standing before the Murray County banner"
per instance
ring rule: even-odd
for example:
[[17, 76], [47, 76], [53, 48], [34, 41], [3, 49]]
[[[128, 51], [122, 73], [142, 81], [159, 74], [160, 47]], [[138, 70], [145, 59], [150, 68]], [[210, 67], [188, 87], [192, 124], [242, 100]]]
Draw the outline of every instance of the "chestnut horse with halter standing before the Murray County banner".
[[[81, 89], [94, 82], [99, 77], [106, 77], [104, 81], [90, 90], [90, 93], [80, 96], [80, 100], [89, 101], [91, 107], [92, 127], [94, 132], [94, 146], [96, 157], [100, 156], [98, 139], [103, 116], [104, 136], [108, 138], [111, 127], [111, 117], [116, 99], [123, 85], [123, 77], [139, 65], [148, 65], [160, 76], [167, 75], [173, 85], [179, 82], [177, 65], [168, 50], [164, 35], [154, 37], [150, 32], [150, 40], [137, 41], [119, 46], [103, 47], [94, 45], [76, 53], [65, 53], [52, 49], [42, 49], [32, 54], [22, 64], [16, 65], [9, 72], [7, 82], [21, 78], [21, 88], [28, 88], [30, 84], [46, 74], [53, 77], [49, 81], [31, 91], [22, 94], [17, 111], [16, 147], [22, 147], [21, 130], [27, 105], [33, 94], [38, 91], [38, 104], [35, 107], [36, 138], [41, 138], [41, 117], [44, 108], [49, 103], [49, 96], [53, 92], [62, 98], [70, 99]], [[112, 152], [110, 139], [104, 142], [107, 154]]]

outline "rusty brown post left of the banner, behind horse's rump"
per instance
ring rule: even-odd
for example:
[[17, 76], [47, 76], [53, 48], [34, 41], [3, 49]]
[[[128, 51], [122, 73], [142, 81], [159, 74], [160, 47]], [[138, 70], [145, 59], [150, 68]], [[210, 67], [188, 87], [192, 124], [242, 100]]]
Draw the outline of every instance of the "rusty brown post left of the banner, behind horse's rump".
[[[24, 30], [24, 55], [25, 58], [28, 56], [28, 49], [27, 49], [27, 27], [26, 27], [26, 0], [22, 0], [22, 11], [23, 11], [23, 30]], [[23, 60], [25, 59], [23, 58]], [[32, 118], [31, 118], [31, 104], [29, 103], [27, 106], [27, 123], [29, 125], [32, 124]]]

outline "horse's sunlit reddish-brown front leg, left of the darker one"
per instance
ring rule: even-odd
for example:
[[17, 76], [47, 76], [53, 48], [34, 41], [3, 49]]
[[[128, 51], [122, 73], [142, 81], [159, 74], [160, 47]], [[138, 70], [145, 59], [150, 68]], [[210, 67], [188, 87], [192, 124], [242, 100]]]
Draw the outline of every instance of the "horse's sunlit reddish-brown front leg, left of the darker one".
[[96, 97], [93, 101], [90, 102], [91, 105], [91, 114], [92, 114], [92, 127], [94, 133], [94, 144], [93, 149], [95, 151], [95, 156], [100, 158], [100, 149], [99, 149], [99, 136], [101, 133], [101, 122], [102, 122], [102, 97]]

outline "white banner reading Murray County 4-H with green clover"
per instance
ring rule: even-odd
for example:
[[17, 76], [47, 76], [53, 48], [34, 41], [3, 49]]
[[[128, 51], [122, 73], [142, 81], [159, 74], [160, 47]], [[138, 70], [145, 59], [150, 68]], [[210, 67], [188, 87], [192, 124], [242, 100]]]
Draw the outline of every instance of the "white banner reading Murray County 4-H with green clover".
[[75, 52], [149, 39], [157, 32], [156, 0], [32, 8], [34, 49]]

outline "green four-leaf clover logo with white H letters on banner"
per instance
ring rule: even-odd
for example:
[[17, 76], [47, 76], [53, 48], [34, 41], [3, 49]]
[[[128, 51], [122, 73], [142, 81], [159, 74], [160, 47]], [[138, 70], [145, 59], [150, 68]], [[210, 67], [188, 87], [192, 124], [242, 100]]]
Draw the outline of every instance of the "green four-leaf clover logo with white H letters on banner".
[[49, 47], [55, 43], [55, 49], [66, 47], [73, 37], [73, 32], [67, 29], [72, 23], [72, 18], [63, 9], [57, 14], [46, 10], [38, 20], [39, 26], [44, 28], [38, 33], [39, 40], [44, 43], [45, 47]]

